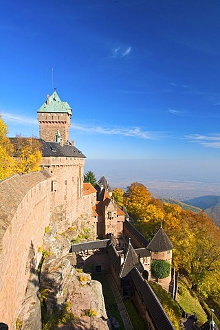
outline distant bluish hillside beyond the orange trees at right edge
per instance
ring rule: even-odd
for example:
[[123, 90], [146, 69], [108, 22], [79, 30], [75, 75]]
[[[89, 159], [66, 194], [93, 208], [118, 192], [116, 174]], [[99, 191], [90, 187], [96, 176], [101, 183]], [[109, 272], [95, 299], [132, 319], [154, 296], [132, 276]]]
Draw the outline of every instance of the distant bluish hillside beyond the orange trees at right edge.
[[183, 203], [201, 208], [220, 227], [220, 196], [201, 196]]

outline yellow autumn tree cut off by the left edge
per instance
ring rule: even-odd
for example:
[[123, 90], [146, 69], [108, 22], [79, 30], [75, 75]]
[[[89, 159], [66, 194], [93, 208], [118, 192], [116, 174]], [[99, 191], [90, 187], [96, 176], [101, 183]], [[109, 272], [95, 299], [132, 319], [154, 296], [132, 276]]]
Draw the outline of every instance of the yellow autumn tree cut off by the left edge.
[[8, 128], [0, 115], [0, 180], [10, 177], [15, 170], [14, 148], [7, 137], [7, 133]]

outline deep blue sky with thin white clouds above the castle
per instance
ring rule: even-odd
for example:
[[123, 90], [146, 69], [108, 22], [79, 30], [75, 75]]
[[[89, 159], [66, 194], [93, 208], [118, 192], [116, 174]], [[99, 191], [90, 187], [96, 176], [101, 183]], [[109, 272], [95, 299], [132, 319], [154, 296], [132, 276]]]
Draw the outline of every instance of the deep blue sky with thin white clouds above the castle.
[[88, 159], [219, 161], [219, 17], [215, 0], [1, 0], [9, 135], [39, 136], [53, 67]]

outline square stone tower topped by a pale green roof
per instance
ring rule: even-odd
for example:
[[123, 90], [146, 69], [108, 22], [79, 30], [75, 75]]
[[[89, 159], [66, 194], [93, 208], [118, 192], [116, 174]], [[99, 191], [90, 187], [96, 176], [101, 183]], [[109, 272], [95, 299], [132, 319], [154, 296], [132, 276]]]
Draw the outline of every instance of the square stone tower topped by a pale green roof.
[[62, 102], [56, 91], [50, 96], [38, 112], [40, 137], [47, 142], [56, 142], [57, 134], [61, 135], [61, 143], [69, 142], [69, 126], [72, 109], [67, 102]]

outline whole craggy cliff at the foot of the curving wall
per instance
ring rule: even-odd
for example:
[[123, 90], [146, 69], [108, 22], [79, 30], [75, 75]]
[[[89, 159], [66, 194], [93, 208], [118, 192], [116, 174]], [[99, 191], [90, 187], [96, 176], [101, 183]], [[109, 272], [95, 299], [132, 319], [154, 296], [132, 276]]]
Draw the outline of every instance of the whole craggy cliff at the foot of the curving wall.
[[69, 254], [77, 234], [58, 234], [55, 225], [45, 233], [39, 274], [32, 267], [17, 329], [41, 330], [42, 322], [43, 329], [111, 329], [101, 284], [76, 270], [76, 257]]

